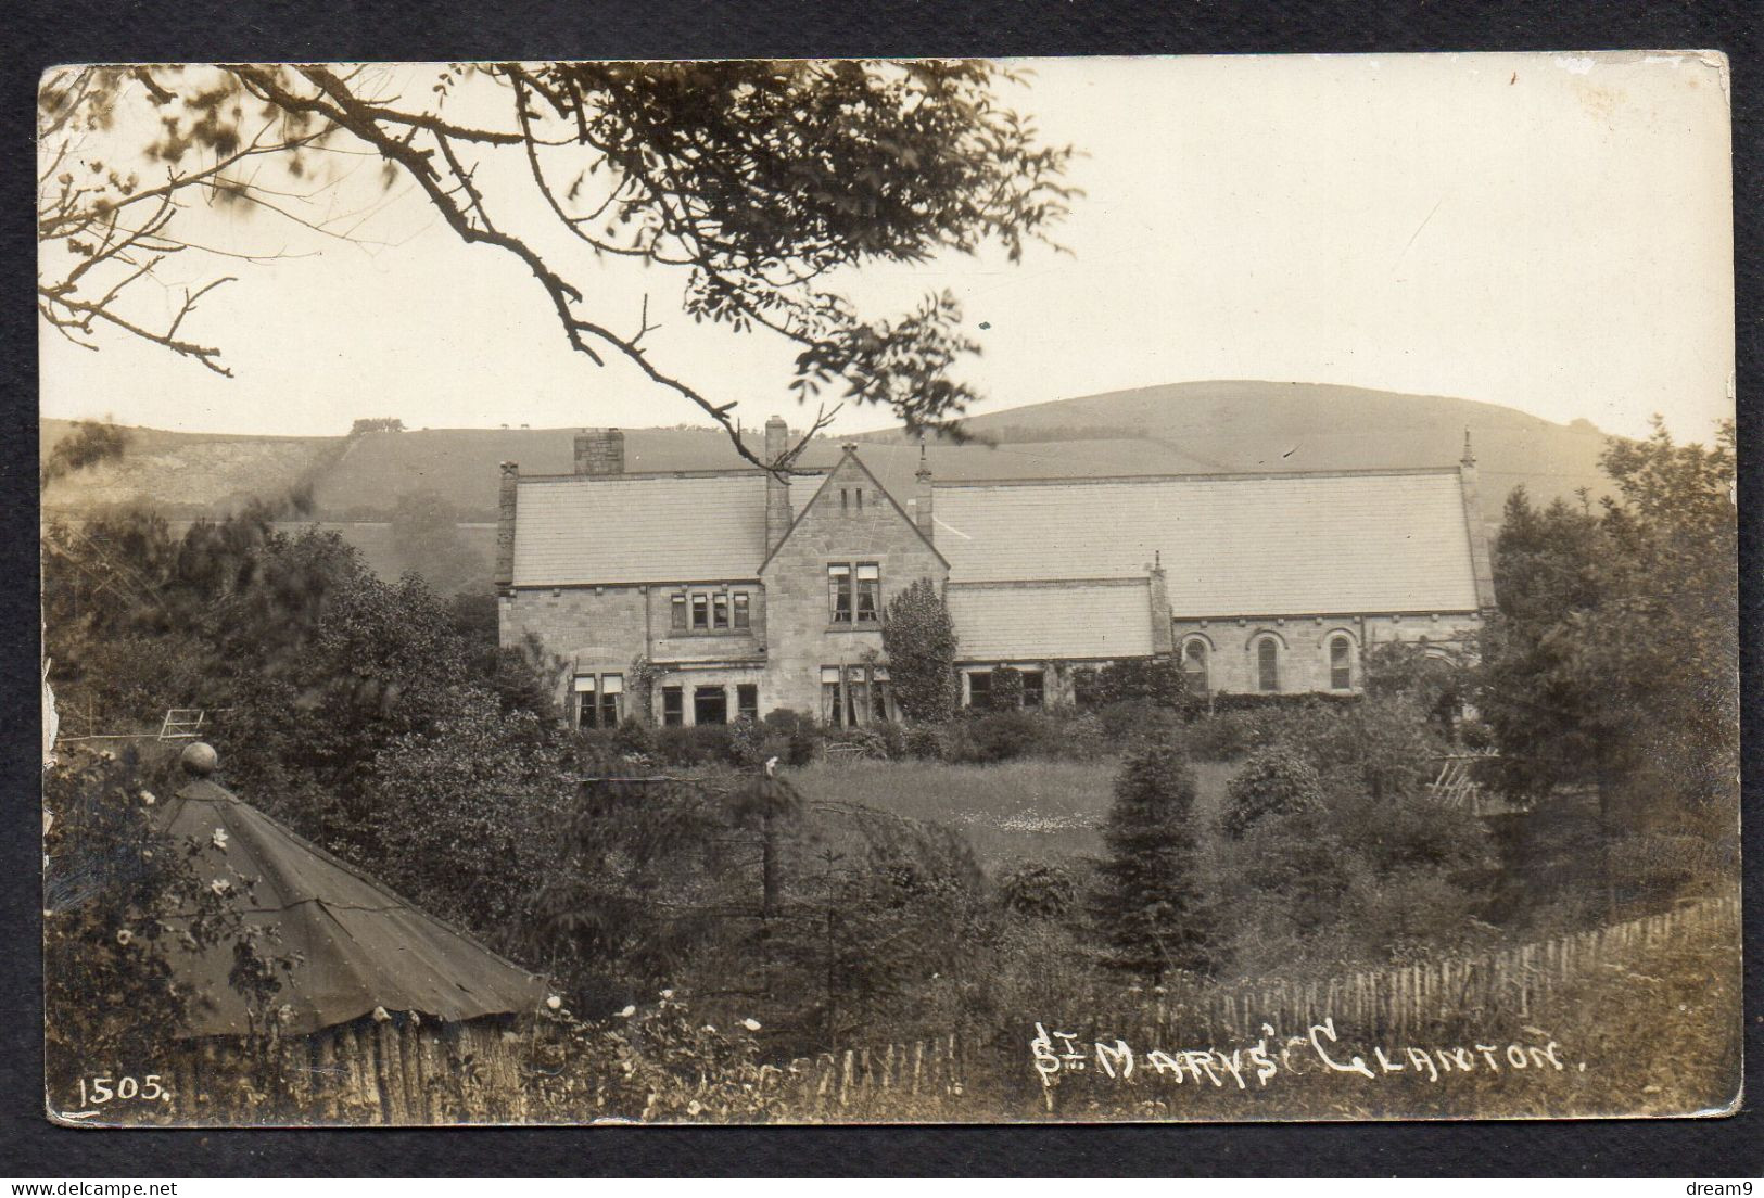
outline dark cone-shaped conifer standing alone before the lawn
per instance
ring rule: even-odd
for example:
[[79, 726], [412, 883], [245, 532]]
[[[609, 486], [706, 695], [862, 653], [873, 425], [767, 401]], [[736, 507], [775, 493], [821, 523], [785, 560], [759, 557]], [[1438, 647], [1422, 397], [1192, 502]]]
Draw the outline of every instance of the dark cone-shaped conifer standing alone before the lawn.
[[1108, 857], [1094, 898], [1106, 962], [1159, 981], [1214, 967], [1214, 939], [1201, 910], [1194, 827], [1194, 771], [1175, 748], [1129, 757], [1115, 778], [1102, 831]]

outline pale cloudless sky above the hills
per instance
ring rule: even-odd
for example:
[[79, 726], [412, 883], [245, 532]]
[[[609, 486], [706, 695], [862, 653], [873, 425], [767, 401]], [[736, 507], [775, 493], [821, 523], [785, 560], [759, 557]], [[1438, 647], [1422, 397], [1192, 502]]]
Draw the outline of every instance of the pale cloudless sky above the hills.
[[[983, 355], [974, 413], [1196, 379], [1342, 383], [1506, 404], [1625, 436], [1662, 413], [1708, 439], [1730, 416], [1732, 194], [1727, 81], [1695, 55], [1067, 58], [1005, 92], [1083, 189], [1013, 265], [1002, 252], [866, 266], [866, 314], [951, 289]], [[427, 69], [386, 86], [425, 90]], [[123, 129], [122, 132], [127, 132]], [[517, 166], [517, 164], [510, 164]], [[524, 164], [519, 164], [524, 169]], [[700, 413], [609, 358], [564, 348], [524, 266], [466, 247], [407, 183], [339, 159], [298, 206], [192, 208], [192, 240], [272, 261], [162, 268], [136, 309], [169, 312], [219, 273], [183, 333], [222, 379], [162, 349], [42, 328], [42, 413], [161, 429], [342, 434], [406, 427], [669, 425]], [[508, 180], [512, 191], [515, 178]], [[490, 187], [497, 180], [490, 178]], [[538, 217], [538, 212], [531, 215]], [[693, 325], [679, 281], [556, 252], [591, 312], [744, 423], [806, 423], [790, 346]], [[161, 318], [162, 319], [162, 318]], [[836, 431], [891, 423], [847, 409]]]

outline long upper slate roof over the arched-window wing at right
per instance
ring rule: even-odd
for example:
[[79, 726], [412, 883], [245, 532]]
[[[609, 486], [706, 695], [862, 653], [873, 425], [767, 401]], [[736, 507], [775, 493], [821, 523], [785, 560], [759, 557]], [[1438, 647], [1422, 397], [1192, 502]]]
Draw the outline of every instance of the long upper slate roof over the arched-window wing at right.
[[938, 485], [951, 584], [1168, 573], [1173, 616], [1476, 610], [1455, 469]]

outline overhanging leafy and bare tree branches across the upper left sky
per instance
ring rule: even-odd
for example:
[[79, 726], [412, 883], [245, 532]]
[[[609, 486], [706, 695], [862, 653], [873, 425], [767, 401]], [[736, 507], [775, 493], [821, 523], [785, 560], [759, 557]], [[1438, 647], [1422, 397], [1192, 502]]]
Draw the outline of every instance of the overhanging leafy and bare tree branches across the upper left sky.
[[[187, 289], [161, 325], [131, 307], [134, 284], [201, 252], [185, 219], [194, 203], [312, 224], [300, 201], [330, 185], [332, 155], [367, 155], [388, 191], [415, 187], [459, 240], [531, 273], [572, 349], [594, 363], [623, 356], [709, 415], [743, 457], [783, 469], [831, 411], [760, 462], [739, 438], [736, 401], [656, 362], [647, 300], [605, 296], [594, 261], [674, 268], [695, 321], [792, 342], [804, 401], [838, 385], [841, 401], [889, 408], [910, 429], [949, 427], [975, 399], [951, 371], [975, 351], [960, 305], [946, 291], [896, 318], [866, 316], [834, 289], [840, 272], [986, 245], [1016, 261], [1073, 194], [1071, 150], [1037, 141], [998, 99], [1018, 76], [986, 62], [423, 71], [53, 72], [37, 113], [42, 319], [78, 344], [95, 348], [102, 326], [229, 374], [220, 348], [185, 325], [228, 277]], [[141, 127], [153, 129], [148, 145], [129, 145]]]

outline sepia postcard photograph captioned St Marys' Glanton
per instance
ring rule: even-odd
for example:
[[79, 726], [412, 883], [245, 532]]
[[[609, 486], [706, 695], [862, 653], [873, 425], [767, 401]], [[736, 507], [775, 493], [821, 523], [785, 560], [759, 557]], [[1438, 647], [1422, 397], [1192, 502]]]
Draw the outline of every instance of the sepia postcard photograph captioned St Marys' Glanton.
[[51, 1122], [1739, 1110], [1722, 53], [35, 124]]

